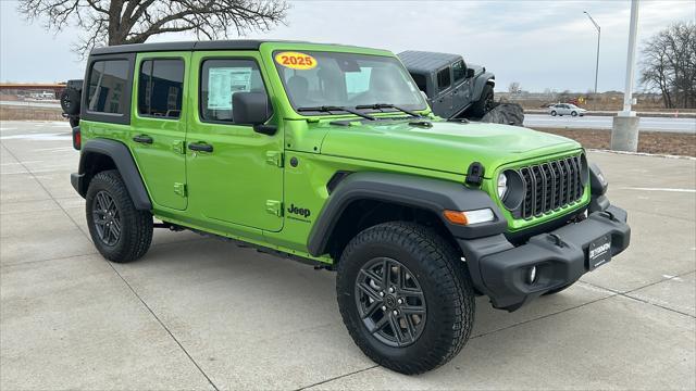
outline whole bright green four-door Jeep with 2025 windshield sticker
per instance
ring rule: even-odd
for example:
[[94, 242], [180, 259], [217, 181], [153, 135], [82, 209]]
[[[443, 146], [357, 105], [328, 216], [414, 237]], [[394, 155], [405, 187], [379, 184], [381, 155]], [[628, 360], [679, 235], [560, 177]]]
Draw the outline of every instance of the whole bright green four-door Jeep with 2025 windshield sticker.
[[385, 50], [108, 47], [82, 91], [71, 181], [105, 258], [141, 257], [163, 227], [337, 270], [355, 342], [399, 373], [452, 358], [476, 295], [514, 311], [629, 245], [577, 142], [442, 119]]

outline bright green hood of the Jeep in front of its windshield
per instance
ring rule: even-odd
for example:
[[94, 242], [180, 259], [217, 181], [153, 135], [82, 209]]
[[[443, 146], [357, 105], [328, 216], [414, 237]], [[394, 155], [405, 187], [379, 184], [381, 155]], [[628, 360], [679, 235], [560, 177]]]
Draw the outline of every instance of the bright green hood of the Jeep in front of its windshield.
[[508, 163], [580, 149], [571, 139], [519, 126], [436, 122], [352, 123], [332, 126], [321, 153], [446, 173], [467, 174], [481, 162], [485, 177]]

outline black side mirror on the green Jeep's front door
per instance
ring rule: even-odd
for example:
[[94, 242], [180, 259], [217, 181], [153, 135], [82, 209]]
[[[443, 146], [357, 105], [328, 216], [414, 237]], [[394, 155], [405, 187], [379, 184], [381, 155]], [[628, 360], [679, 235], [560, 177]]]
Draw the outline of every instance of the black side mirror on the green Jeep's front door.
[[251, 125], [253, 130], [264, 135], [275, 135], [275, 125], [265, 125], [273, 115], [273, 109], [265, 92], [238, 91], [232, 96], [232, 117], [235, 124]]

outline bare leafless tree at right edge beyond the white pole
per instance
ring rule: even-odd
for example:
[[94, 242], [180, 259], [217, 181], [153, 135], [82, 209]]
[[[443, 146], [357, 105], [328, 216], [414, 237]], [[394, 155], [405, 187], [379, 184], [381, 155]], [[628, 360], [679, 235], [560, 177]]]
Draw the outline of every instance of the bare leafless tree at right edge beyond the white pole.
[[644, 43], [641, 83], [664, 108], [696, 108], [696, 24], [676, 23]]

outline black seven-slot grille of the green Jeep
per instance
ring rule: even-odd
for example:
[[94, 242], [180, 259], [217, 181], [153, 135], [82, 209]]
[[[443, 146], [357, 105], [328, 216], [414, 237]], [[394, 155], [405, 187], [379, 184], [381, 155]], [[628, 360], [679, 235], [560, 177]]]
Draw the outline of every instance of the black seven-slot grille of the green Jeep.
[[583, 197], [581, 155], [518, 169], [524, 181], [520, 216], [529, 219], [577, 202]]

